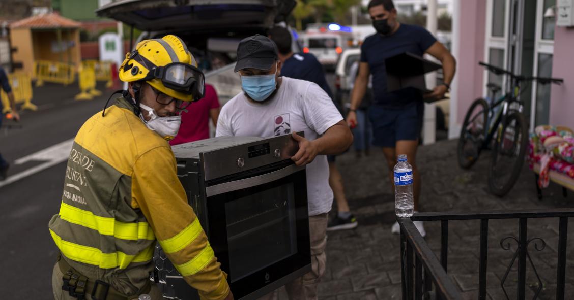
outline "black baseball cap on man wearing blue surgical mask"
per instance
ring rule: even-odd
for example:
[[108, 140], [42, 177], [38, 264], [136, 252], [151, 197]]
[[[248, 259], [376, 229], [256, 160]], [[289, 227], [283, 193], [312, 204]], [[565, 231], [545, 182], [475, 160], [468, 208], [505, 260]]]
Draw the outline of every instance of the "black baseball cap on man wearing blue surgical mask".
[[277, 52], [275, 42], [265, 35], [255, 34], [244, 38], [237, 46], [237, 64], [234, 72], [247, 68], [271, 69], [278, 59]]

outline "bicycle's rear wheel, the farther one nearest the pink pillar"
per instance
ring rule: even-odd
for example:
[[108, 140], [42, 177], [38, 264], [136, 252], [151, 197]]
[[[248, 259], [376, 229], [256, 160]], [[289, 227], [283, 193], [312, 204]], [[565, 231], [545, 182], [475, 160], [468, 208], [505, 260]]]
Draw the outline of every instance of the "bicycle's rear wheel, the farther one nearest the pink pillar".
[[476, 99], [464, 116], [463, 127], [460, 129], [456, 154], [461, 168], [468, 169], [478, 160], [484, 143], [487, 120], [488, 103], [482, 98]]

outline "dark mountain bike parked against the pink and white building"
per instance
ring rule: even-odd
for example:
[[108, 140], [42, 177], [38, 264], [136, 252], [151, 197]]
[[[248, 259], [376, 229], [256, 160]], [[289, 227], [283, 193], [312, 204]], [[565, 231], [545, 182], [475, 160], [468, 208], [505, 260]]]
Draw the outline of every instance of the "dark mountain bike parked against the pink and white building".
[[[522, 82], [561, 84], [560, 78], [526, 77], [479, 62], [490, 72], [509, 78], [511, 90], [496, 98], [501, 86], [487, 85], [490, 104], [484, 98], [472, 102], [460, 129], [457, 156], [461, 168], [468, 169], [478, 160], [480, 152], [492, 145], [488, 167], [488, 189], [494, 195], [506, 195], [516, 183], [525, 160], [528, 145], [528, 122], [522, 114], [523, 102], [518, 100]], [[500, 107], [502, 105], [502, 108]]]

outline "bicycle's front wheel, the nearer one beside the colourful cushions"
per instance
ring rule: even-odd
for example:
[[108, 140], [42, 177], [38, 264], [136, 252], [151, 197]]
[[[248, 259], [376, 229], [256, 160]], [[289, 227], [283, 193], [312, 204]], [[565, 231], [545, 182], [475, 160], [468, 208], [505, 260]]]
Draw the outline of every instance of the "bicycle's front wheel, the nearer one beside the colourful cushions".
[[488, 188], [502, 197], [516, 183], [528, 145], [528, 124], [522, 113], [511, 113], [494, 140], [488, 168]]

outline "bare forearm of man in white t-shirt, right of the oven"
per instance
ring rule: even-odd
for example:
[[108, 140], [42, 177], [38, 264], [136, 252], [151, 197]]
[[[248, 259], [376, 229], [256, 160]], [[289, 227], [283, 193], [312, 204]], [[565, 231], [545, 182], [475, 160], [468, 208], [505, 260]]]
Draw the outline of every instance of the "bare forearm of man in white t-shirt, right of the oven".
[[338, 155], [351, 147], [353, 135], [344, 121], [340, 121], [313, 142], [317, 144], [319, 155]]

